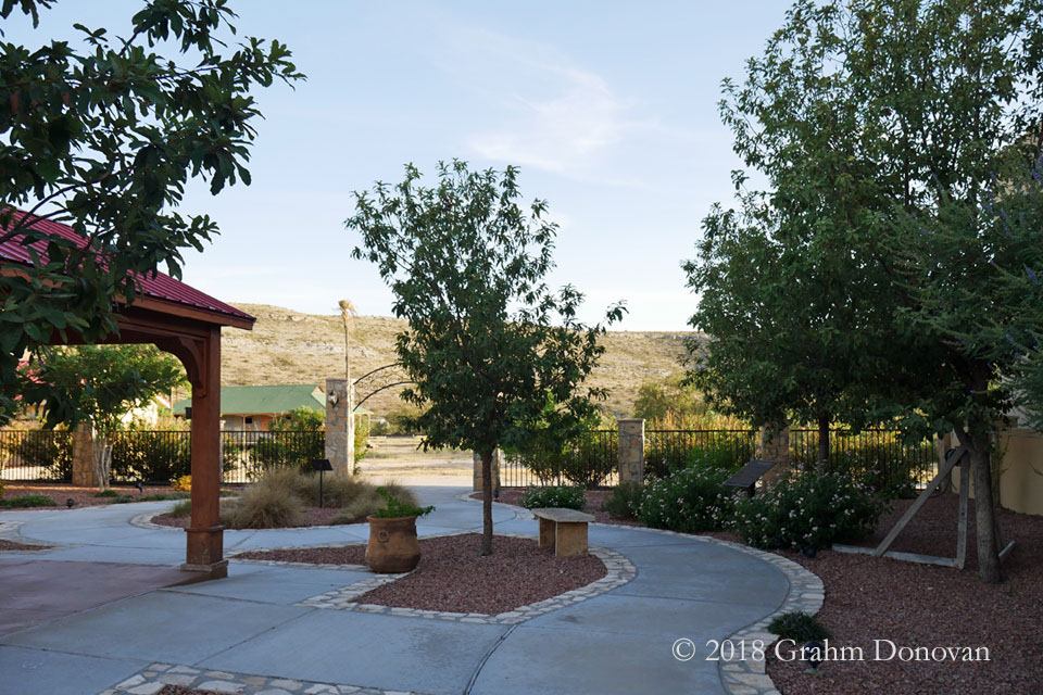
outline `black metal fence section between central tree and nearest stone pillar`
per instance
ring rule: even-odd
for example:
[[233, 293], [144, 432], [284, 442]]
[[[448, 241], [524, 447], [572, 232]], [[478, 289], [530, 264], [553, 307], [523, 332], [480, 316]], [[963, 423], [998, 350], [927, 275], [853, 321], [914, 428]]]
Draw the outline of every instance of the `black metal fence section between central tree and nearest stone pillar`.
[[619, 482], [619, 432], [586, 432], [564, 452], [537, 452], [507, 455], [500, 468], [500, 484], [528, 485], [614, 485]]

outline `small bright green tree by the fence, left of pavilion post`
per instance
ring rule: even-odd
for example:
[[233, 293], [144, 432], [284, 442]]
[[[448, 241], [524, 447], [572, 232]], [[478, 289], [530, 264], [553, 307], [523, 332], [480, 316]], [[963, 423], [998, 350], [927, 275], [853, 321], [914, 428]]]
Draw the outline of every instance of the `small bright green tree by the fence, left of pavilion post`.
[[[93, 429], [93, 468], [98, 484], [109, 489], [112, 434], [134, 408], [187, 383], [180, 363], [153, 345], [86, 345], [51, 351], [46, 361], [29, 366], [32, 379], [64, 394], [75, 408], [75, 420]], [[41, 404], [43, 416], [53, 410]]]

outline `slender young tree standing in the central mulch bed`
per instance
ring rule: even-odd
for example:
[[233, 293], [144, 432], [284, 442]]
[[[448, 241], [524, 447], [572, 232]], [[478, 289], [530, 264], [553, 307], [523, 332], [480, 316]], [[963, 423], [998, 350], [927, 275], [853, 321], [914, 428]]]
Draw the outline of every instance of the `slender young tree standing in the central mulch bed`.
[[[481, 457], [482, 544], [492, 552], [491, 462], [498, 446], [524, 448], [540, 431], [578, 430], [600, 389], [580, 384], [604, 348], [601, 325], [576, 319], [582, 295], [552, 292], [546, 274], [557, 226], [546, 203], [519, 205], [517, 169], [469, 172], [440, 163], [438, 186], [406, 165], [393, 188], [355, 193], [345, 225], [362, 235], [356, 258], [377, 264], [409, 321], [395, 352], [415, 387], [402, 397], [425, 408], [425, 446], [472, 448]], [[623, 315], [610, 308], [608, 323]], [[548, 408], [546, 404], [554, 407]]]

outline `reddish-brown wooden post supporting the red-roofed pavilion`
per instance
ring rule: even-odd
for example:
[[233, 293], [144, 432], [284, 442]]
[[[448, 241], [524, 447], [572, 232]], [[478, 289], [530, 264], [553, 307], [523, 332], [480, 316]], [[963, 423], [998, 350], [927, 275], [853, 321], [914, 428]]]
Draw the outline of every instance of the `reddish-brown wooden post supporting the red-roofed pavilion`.
[[192, 379], [192, 518], [181, 569], [228, 576], [221, 526], [221, 328], [194, 345]]

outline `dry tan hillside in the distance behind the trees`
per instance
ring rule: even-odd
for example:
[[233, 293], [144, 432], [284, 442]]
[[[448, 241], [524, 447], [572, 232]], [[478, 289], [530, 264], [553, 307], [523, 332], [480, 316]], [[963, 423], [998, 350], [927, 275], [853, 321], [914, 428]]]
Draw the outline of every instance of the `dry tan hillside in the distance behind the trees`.
[[[280, 306], [237, 304], [257, 317], [252, 331], [224, 329], [222, 381], [225, 386], [317, 383], [344, 374], [344, 338], [339, 315], [302, 314]], [[394, 336], [405, 321], [382, 316], [355, 319], [352, 376], [359, 377], [394, 361]], [[591, 375], [591, 384], [608, 389], [606, 405], [617, 416], [628, 416], [638, 389], [645, 381], [681, 372], [683, 339], [690, 332], [610, 331], [605, 354]], [[398, 389], [366, 402], [377, 415], [401, 410]]]

